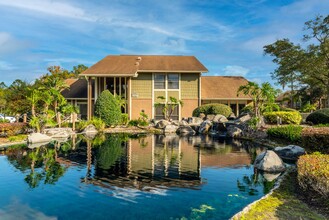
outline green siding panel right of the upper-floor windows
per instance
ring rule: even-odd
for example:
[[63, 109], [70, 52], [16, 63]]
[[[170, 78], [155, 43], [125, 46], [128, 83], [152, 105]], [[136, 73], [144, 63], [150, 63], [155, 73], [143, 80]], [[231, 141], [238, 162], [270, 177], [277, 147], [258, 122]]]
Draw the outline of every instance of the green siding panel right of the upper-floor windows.
[[181, 99], [199, 98], [199, 73], [181, 74]]

